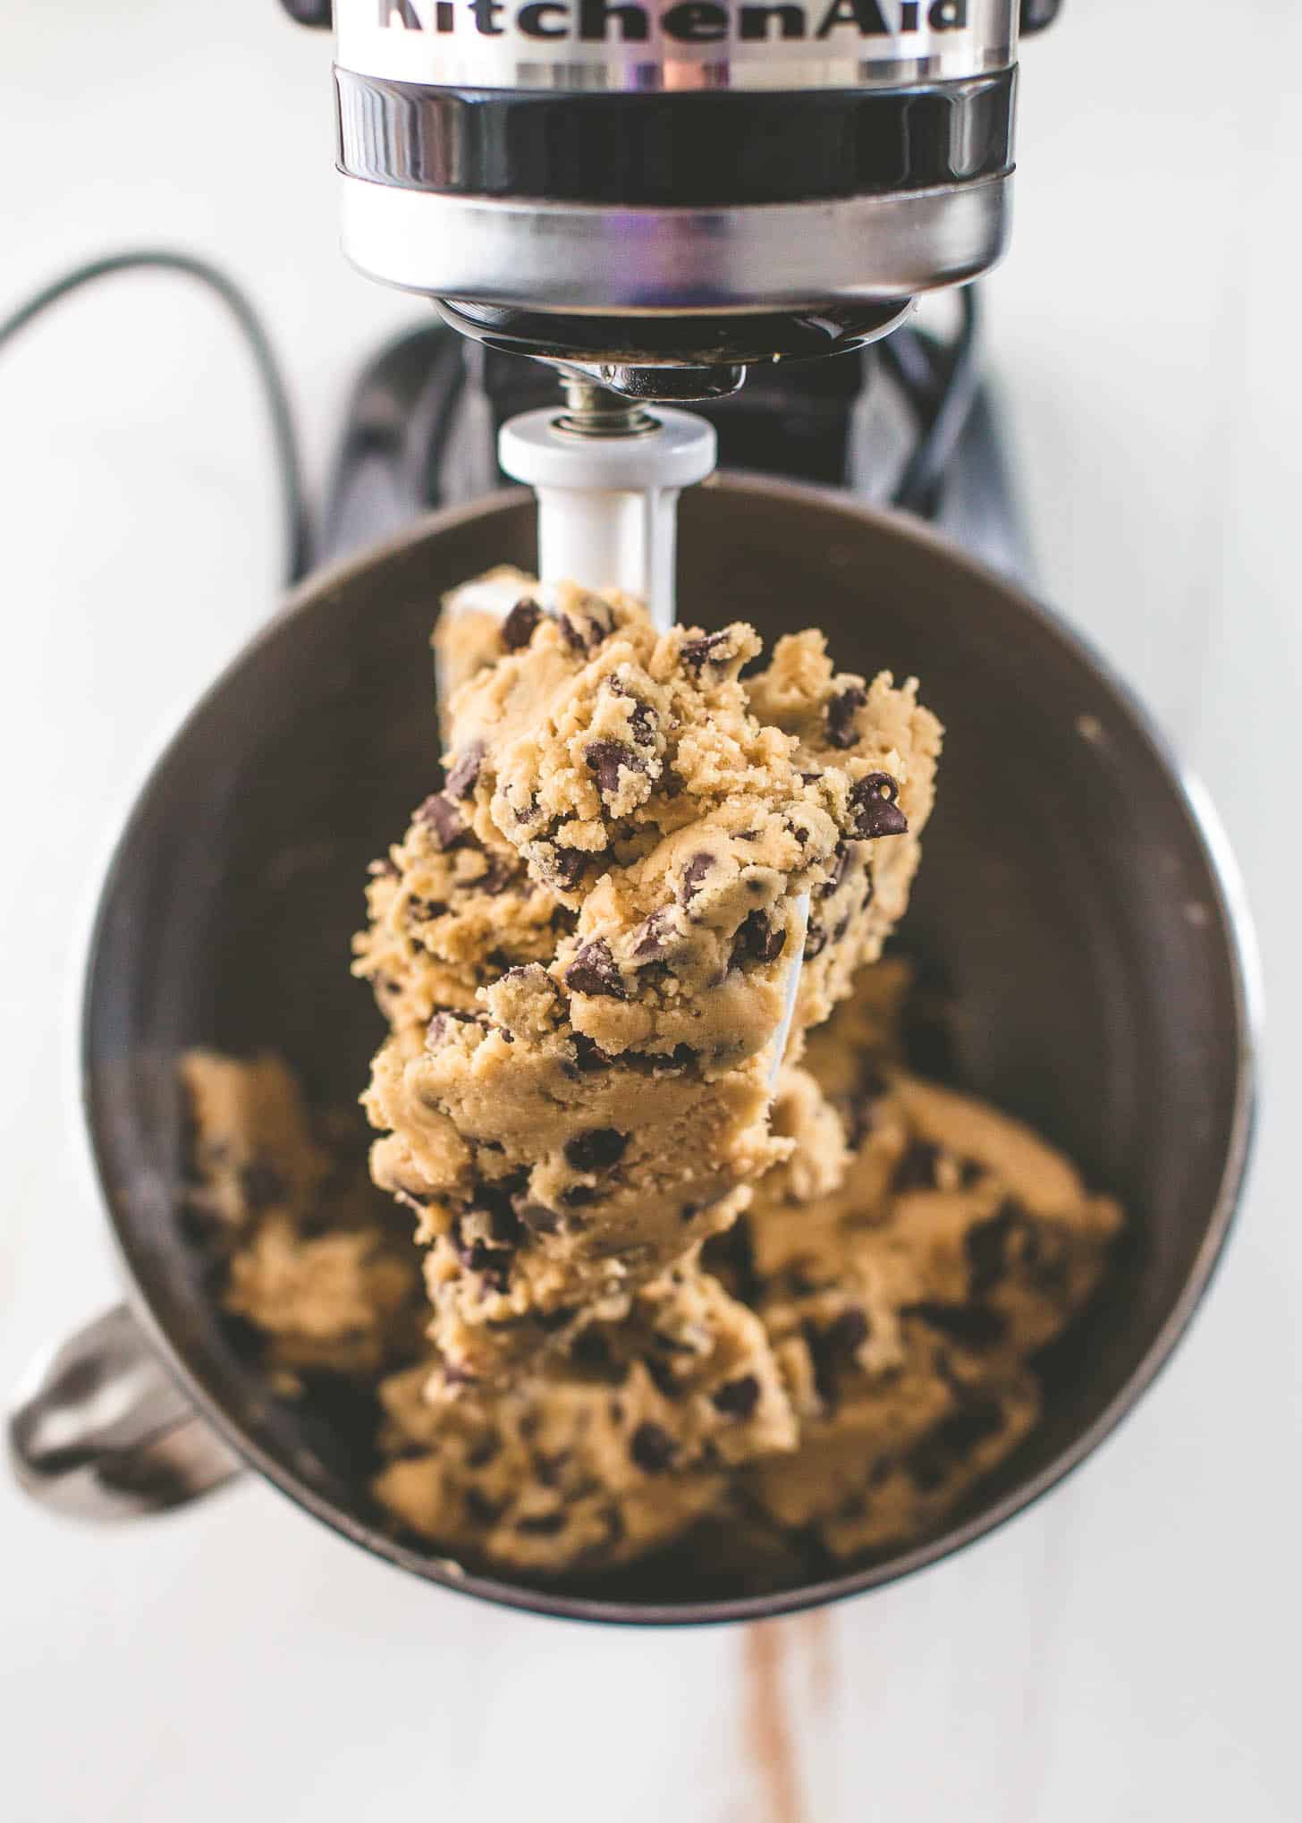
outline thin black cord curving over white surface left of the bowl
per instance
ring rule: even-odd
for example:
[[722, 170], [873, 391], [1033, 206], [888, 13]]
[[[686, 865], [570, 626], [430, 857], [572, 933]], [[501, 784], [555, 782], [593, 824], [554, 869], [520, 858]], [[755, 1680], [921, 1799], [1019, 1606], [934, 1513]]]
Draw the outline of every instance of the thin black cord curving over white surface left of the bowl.
[[257, 377], [261, 379], [263, 392], [266, 394], [266, 408], [272, 419], [272, 439], [275, 443], [275, 469], [281, 479], [284, 512], [284, 572], [286, 580], [294, 583], [306, 574], [312, 558], [312, 527], [306, 494], [303, 489], [303, 463], [299, 459], [299, 443], [294, 430], [294, 412], [290, 408], [290, 397], [281, 366], [275, 359], [275, 350], [272, 348], [266, 330], [263, 328], [263, 321], [233, 279], [228, 279], [224, 272], [212, 266], [206, 259], [195, 259], [190, 253], [171, 253], [168, 250], [155, 248], [108, 253], [104, 259], [93, 259], [84, 266], [73, 268], [73, 272], [66, 272], [62, 279], [55, 279], [51, 284], [36, 292], [35, 297], [29, 297], [26, 304], [20, 304], [11, 315], [2, 317], [0, 348], [4, 348], [7, 341], [18, 335], [20, 330], [24, 330], [38, 315], [49, 310], [51, 304], [57, 304], [71, 292], [78, 292], [82, 286], [93, 284], [97, 279], [108, 279], [115, 272], [135, 272], [139, 268], [179, 272], [190, 279], [199, 279], [201, 284], [206, 284], [208, 290], [215, 292], [226, 304], [248, 345], [250, 354], [253, 355]]

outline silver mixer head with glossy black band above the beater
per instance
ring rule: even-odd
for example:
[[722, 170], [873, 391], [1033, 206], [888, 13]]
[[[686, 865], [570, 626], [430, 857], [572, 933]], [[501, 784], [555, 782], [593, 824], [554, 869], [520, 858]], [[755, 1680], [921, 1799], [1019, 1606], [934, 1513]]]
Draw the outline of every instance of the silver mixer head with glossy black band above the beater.
[[1007, 242], [1018, 0], [336, 0], [334, 27], [348, 257], [627, 394], [863, 345]]

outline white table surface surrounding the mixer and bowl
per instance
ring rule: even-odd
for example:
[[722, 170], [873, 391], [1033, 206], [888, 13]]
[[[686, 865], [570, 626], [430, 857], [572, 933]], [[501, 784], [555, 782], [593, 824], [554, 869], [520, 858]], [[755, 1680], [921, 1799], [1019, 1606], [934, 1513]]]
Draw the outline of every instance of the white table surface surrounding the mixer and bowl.
[[[319, 476], [357, 363], [421, 314], [336, 252], [326, 42], [272, 0], [5, 15], [0, 314], [89, 252], [213, 253], [270, 315]], [[1298, 69], [1291, 0], [1070, 0], [1025, 51], [990, 286], [1047, 591], [1209, 778], [1262, 937], [1256, 1167], [1171, 1371], [994, 1539], [749, 1632], [489, 1612], [261, 1486], [93, 1531], [0, 1478], [0, 1816], [1302, 1816]], [[0, 357], [5, 1385], [113, 1296], [80, 946], [162, 735], [275, 598], [264, 450], [243, 352], [179, 281], [119, 281]]]

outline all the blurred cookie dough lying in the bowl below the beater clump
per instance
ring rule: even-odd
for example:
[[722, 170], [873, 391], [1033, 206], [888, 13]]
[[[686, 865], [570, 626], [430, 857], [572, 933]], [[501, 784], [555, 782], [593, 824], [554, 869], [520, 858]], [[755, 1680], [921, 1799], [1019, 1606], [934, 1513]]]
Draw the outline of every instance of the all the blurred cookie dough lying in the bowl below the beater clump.
[[554, 1575], [673, 1548], [757, 1586], [853, 1560], [1032, 1429], [1036, 1353], [1121, 1220], [1018, 1121], [899, 1066], [903, 984], [866, 970], [784, 1070], [786, 1158], [735, 1225], [509, 1389], [443, 1396], [410, 1234], [274, 1061], [188, 1061], [191, 1218], [281, 1391], [377, 1387], [376, 1499], [439, 1550]]

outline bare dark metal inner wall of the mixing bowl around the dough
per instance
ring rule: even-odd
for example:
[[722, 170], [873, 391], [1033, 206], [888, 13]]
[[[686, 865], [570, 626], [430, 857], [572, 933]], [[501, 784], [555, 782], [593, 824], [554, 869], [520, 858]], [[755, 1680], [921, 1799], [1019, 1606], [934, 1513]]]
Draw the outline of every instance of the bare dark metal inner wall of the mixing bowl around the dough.
[[934, 1537], [748, 1597], [689, 1568], [547, 1586], [463, 1575], [385, 1529], [339, 1406], [268, 1396], [182, 1240], [188, 1045], [275, 1048], [350, 1101], [379, 1019], [348, 979], [367, 862], [436, 764], [439, 592], [532, 561], [512, 494], [310, 582], [199, 704], [122, 837], [97, 926], [86, 1105], [135, 1302], [239, 1451], [339, 1531], [436, 1582], [613, 1621], [775, 1613], [979, 1537], [1085, 1457], [1149, 1384], [1225, 1238], [1251, 1121], [1233, 886], [1134, 702], [1016, 587], [925, 529], [813, 489], [726, 479], [682, 501], [682, 616], [768, 638], [819, 622], [841, 665], [917, 673], [948, 736], [904, 948], [952, 995], [956, 1081], [1041, 1127], [1132, 1231], [1043, 1364], [1047, 1418]]

